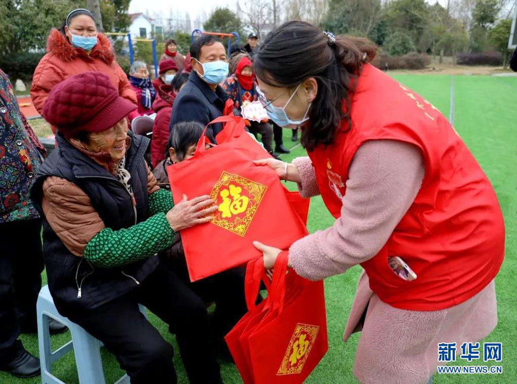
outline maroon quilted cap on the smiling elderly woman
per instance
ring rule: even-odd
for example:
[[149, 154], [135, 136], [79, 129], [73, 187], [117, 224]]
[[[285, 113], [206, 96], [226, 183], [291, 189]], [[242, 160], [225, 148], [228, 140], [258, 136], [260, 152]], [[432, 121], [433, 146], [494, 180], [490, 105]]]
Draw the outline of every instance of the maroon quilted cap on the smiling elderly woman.
[[135, 109], [135, 104], [118, 96], [107, 75], [84, 72], [52, 88], [43, 105], [43, 117], [60, 132], [70, 135], [105, 131]]

